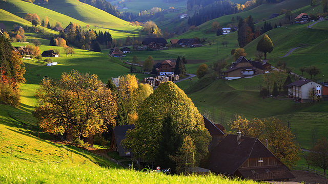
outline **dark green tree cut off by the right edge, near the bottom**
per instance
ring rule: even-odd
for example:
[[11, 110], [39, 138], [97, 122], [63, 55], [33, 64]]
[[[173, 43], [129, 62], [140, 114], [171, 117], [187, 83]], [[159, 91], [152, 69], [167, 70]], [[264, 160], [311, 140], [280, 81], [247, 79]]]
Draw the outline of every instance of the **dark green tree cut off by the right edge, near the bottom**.
[[310, 165], [319, 167], [326, 173], [328, 168], [328, 140], [321, 137], [311, 148]]

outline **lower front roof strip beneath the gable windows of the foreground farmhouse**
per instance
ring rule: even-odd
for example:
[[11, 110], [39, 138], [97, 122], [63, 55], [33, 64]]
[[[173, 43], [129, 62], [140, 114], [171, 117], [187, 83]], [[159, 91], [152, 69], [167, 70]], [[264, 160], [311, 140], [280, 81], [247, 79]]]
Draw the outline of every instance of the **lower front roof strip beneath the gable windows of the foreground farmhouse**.
[[282, 180], [295, 178], [295, 176], [284, 166], [268, 166], [258, 168], [238, 169], [244, 178], [253, 180]]

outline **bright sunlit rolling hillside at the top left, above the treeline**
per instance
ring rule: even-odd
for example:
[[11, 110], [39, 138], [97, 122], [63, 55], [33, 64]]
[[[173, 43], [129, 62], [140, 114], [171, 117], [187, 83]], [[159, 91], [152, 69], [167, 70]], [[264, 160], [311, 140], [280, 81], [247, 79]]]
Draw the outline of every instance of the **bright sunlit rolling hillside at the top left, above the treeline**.
[[90, 25], [91, 28], [95, 29], [94, 26], [97, 26], [100, 27], [100, 29], [96, 29], [97, 32], [99, 30], [109, 31], [114, 38], [133, 36], [141, 31], [140, 27], [131, 26], [127, 21], [78, 1], [60, 0], [42, 6], [45, 8], [20, 0], [0, 2], [1, 9], [19, 17], [24, 18], [26, 13], [37, 13], [40, 19], [45, 19], [48, 16], [51, 25], [59, 22], [63, 28], [69, 22], [74, 22], [83, 28]]

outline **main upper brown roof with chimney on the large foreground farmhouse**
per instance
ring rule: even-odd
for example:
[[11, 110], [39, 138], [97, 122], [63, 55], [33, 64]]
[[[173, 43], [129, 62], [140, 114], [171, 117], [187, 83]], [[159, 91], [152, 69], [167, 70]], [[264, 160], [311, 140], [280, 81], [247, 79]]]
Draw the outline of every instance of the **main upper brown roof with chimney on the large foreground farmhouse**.
[[275, 157], [257, 138], [228, 134], [212, 150], [207, 163], [211, 171], [233, 175], [237, 169], [249, 158]]

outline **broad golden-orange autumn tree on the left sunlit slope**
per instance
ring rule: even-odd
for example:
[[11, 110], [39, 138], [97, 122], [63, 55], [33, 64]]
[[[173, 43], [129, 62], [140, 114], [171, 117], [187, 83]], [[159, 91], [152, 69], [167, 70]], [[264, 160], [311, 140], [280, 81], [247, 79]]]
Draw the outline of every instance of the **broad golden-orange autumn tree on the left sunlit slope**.
[[60, 79], [47, 78], [36, 91], [33, 115], [46, 132], [89, 137], [115, 125], [116, 99], [98, 76], [72, 70]]

